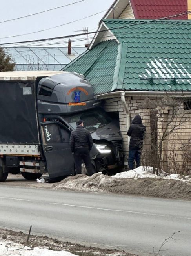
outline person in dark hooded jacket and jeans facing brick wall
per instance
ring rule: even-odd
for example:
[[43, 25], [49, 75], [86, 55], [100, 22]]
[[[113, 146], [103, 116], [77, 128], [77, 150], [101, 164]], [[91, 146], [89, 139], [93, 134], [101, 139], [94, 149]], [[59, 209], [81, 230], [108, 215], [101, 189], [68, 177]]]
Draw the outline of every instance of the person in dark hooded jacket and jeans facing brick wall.
[[140, 166], [141, 149], [146, 128], [142, 124], [140, 115], [136, 115], [132, 121], [127, 135], [131, 137], [129, 143], [129, 168], [133, 170], [133, 162], [136, 161], [136, 167]]

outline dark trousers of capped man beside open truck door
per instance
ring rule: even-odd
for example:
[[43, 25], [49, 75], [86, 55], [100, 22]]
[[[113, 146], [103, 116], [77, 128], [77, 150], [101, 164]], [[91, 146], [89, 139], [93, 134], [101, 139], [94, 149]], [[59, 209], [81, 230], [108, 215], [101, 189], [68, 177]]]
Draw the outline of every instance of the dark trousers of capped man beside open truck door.
[[82, 173], [82, 160], [85, 163], [85, 167], [87, 169], [87, 175], [93, 175], [93, 168], [91, 165], [91, 158], [89, 155], [88, 148], [77, 148], [74, 152], [74, 162], [76, 167], [76, 174]]

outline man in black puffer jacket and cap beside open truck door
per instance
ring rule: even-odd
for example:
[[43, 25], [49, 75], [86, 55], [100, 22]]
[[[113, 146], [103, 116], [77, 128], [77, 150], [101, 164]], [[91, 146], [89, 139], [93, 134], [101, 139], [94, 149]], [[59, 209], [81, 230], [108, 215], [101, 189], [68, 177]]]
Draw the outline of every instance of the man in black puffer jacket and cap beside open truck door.
[[76, 126], [76, 130], [72, 131], [70, 136], [70, 148], [74, 153], [76, 174], [82, 173], [82, 160], [84, 160], [87, 174], [91, 176], [93, 168], [89, 151], [93, 146], [93, 139], [90, 132], [84, 128], [82, 120], [78, 120]]

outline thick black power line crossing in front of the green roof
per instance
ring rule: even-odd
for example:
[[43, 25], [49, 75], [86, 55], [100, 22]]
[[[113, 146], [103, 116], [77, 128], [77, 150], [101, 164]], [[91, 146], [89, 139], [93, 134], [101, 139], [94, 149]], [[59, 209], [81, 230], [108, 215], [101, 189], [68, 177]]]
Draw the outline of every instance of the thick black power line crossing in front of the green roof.
[[[146, 20], [145, 22], [142, 22], [142, 24], [146, 24], [149, 22], [154, 22], [154, 21], [159, 21], [159, 20], [164, 20], [164, 19], [168, 19], [168, 18], [172, 18], [172, 17], [177, 17], [180, 15], [184, 15], [184, 14], [189, 14], [191, 13], [191, 11], [187, 11], [185, 13], [179, 13], [176, 15], [171, 15], [171, 16], [167, 16], [167, 17], [163, 17], [163, 18], [159, 18], [159, 19], [154, 19], [154, 20]], [[136, 25], [140, 25], [140, 24], [130, 24], [130, 25], [126, 25], [126, 26], [119, 26], [113, 29], [117, 29], [117, 28], [128, 28], [131, 26], [136, 26]], [[11, 45], [11, 44], [18, 44], [18, 43], [30, 43], [30, 42], [43, 42], [43, 41], [51, 41], [51, 40], [55, 40], [55, 39], [63, 39], [63, 38], [69, 38], [69, 37], [77, 37], [77, 36], [81, 36], [81, 35], [89, 35], [89, 34], [96, 34], [99, 32], [106, 32], [108, 30], [111, 30], [112, 28], [109, 29], [104, 29], [104, 30], [97, 30], [97, 31], [93, 31], [93, 32], [88, 32], [88, 33], [79, 33], [79, 34], [73, 34], [73, 35], [65, 35], [65, 36], [60, 36], [60, 37], [50, 37], [50, 38], [45, 38], [45, 39], [35, 39], [35, 40], [29, 40], [29, 41], [19, 41], [19, 42], [12, 42], [12, 43], [1, 43], [0, 45]]]

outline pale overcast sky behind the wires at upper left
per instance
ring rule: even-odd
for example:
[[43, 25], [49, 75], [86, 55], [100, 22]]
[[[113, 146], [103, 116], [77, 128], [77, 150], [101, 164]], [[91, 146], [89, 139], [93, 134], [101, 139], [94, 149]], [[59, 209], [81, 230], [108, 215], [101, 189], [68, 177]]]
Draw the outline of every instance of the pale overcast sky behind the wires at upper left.
[[[15, 19], [25, 15], [30, 15], [40, 11], [45, 11], [47, 9], [63, 6], [73, 2], [78, 2], [80, 0], [2, 0], [1, 9], [0, 9], [0, 22]], [[60, 9], [47, 11], [45, 13], [40, 13], [33, 15], [31, 17], [25, 17], [23, 19], [13, 20], [9, 22], [0, 23], [0, 43], [9, 43], [9, 42], [18, 42], [18, 41], [28, 41], [34, 39], [43, 39], [49, 37], [59, 37], [64, 35], [71, 35], [75, 33], [75, 30], [83, 30], [85, 27], [88, 27], [89, 32], [95, 31], [98, 27], [98, 22], [106, 13], [107, 9], [111, 6], [114, 0], [84, 0], [70, 6], [62, 7]], [[102, 12], [103, 11], [103, 12]], [[54, 26], [59, 26], [67, 22], [72, 22], [74, 20], [82, 19], [89, 15], [99, 13], [93, 17], [83, 19], [71, 24], [60, 26], [58, 28], [53, 28], [43, 32], [27, 34], [31, 32], [36, 32], [38, 30], [44, 30]], [[83, 33], [83, 32], [82, 32]], [[27, 34], [27, 35], [22, 35]], [[22, 35], [13, 37], [15, 35]], [[10, 37], [10, 38], [4, 38]], [[93, 37], [89, 35], [89, 37]], [[87, 38], [87, 36], [79, 36], [73, 39], [81, 40]], [[56, 44], [54, 46], [67, 46], [68, 39], [60, 39], [56, 42], [62, 42], [62, 44]], [[55, 42], [55, 41], [54, 41]], [[46, 45], [53, 42], [44, 42], [44, 46], [53, 46]], [[87, 43], [85, 41], [73, 42], [73, 45], [84, 46]], [[41, 43], [42, 44], [42, 43]], [[25, 46], [25, 45], [34, 45], [37, 46], [39, 43], [27, 43], [15, 46]], [[6, 45], [3, 45], [6, 46]], [[8, 45], [7, 45], [8, 46]], [[9, 45], [12, 46], [12, 45]]]

